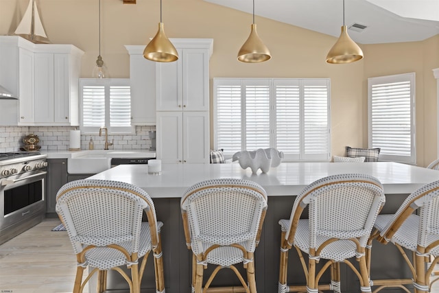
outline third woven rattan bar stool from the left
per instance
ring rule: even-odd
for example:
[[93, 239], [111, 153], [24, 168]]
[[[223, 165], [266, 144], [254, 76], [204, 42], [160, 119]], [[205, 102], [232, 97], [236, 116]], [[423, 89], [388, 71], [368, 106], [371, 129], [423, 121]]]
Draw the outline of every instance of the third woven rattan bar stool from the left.
[[[340, 262], [359, 277], [361, 292], [370, 292], [365, 247], [385, 202], [377, 178], [366, 174], [340, 174], [311, 183], [296, 197], [289, 220], [281, 224], [281, 264], [278, 292], [340, 292]], [[300, 219], [309, 206], [309, 218]], [[296, 248], [307, 285], [287, 285], [288, 251]], [[303, 254], [308, 255], [308, 261]], [[349, 261], [356, 257], [359, 270]], [[318, 270], [316, 264], [326, 260]], [[331, 284], [320, 277], [331, 268]]]

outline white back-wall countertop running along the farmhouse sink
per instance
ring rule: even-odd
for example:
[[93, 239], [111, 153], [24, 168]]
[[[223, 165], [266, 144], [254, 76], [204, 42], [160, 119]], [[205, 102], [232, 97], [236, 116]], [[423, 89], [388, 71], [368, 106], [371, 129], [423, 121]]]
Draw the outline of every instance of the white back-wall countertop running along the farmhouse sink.
[[155, 158], [156, 152], [150, 150], [42, 150], [41, 154], [47, 154], [47, 159], [73, 159], [78, 156], [89, 154], [108, 154], [112, 158]]

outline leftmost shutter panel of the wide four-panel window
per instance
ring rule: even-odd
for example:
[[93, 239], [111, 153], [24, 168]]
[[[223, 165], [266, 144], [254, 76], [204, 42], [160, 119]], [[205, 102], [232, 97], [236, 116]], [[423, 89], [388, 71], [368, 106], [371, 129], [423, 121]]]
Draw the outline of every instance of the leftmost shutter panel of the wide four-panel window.
[[241, 82], [227, 80], [215, 83], [216, 148], [235, 154], [241, 150]]

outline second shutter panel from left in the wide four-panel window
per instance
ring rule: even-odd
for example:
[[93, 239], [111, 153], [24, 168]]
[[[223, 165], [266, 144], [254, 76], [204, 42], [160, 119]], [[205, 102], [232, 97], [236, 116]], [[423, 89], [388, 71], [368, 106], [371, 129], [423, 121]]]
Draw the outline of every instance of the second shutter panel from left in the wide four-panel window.
[[252, 80], [245, 86], [244, 150], [270, 148], [270, 81]]

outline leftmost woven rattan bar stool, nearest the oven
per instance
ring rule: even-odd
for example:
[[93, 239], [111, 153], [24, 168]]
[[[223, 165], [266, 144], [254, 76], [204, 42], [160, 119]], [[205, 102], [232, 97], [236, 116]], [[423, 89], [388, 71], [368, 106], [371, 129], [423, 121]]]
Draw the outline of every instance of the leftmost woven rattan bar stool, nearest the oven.
[[[106, 291], [108, 270], [119, 272], [139, 293], [143, 270], [154, 253], [156, 292], [165, 292], [160, 229], [150, 196], [134, 185], [110, 180], [76, 180], [56, 196], [56, 212], [66, 227], [78, 261], [73, 293], [97, 272], [97, 292]], [[142, 222], [145, 211], [148, 222]], [[139, 258], [143, 257], [139, 268]], [[82, 282], [84, 269], [93, 270]], [[130, 268], [131, 276], [120, 268]]]

